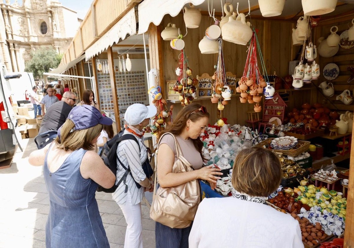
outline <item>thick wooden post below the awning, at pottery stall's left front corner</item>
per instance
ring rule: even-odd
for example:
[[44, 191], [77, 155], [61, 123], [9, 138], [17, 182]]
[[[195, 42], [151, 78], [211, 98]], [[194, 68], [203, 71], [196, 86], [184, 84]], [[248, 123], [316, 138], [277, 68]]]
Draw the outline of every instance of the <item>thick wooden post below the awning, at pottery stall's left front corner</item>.
[[[148, 30], [149, 35], [149, 56], [150, 56], [150, 68], [155, 68], [158, 72], [158, 84], [161, 87], [162, 97], [165, 93], [165, 80], [162, 65], [162, 44], [161, 44], [161, 32], [158, 26], [151, 23]], [[148, 72], [147, 72], [148, 73]]]

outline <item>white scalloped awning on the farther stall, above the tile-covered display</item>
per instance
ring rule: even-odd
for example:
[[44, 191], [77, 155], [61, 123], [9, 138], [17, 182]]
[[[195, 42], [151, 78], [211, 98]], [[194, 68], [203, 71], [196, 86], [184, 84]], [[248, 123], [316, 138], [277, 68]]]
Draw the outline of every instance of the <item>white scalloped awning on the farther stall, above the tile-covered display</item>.
[[102, 35], [99, 40], [93, 43], [92, 46], [86, 49], [86, 61], [103, 52], [109, 46], [112, 46], [113, 43], [118, 43], [119, 39], [124, 40], [127, 34], [136, 34], [136, 18], [134, 8], [126, 13], [124, 17], [122, 17], [111, 29]]

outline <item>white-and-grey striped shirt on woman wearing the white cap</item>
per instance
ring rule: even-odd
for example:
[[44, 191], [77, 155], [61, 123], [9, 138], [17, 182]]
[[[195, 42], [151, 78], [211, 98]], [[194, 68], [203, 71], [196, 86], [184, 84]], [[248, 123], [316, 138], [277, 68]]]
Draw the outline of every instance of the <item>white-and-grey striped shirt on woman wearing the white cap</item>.
[[[125, 130], [123, 135], [131, 134], [129, 131]], [[132, 204], [138, 204], [141, 202], [144, 196], [144, 187], [138, 188], [135, 185], [135, 182], [132, 176], [135, 178], [137, 182], [141, 182], [146, 178], [144, 170], [141, 164], [147, 158], [147, 148], [143, 143], [143, 139], [134, 135], [139, 142], [140, 146], [140, 154], [138, 144], [134, 140], [123, 140], [119, 143], [117, 148], [117, 156], [120, 161], [124, 164], [126, 168], [131, 170], [131, 174], [127, 175], [126, 184], [128, 185], [128, 190], [130, 191], [130, 195], [132, 198]], [[116, 183], [122, 178], [125, 173], [125, 169], [119, 163], [117, 159], [117, 177]], [[125, 191], [125, 184], [123, 182], [120, 183], [118, 188], [112, 193], [113, 200], [118, 204], [125, 204], [127, 201], [127, 193]]]

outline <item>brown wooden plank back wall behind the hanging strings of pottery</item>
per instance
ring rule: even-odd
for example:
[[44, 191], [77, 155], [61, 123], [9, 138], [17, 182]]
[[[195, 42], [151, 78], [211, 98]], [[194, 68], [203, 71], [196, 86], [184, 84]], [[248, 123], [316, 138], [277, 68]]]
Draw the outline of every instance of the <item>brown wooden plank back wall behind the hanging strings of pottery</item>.
[[[249, 18], [246, 18], [249, 21]], [[185, 34], [185, 26], [183, 21], [183, 14], [176, 17], [166, 15], [160, 24], [160, 29], [163, 30], [169, 22], [175, 23], [180, 28], [181, 33]], [[265, 22], [267, 27], [265, 31]], [[251, 23], [258, 30], [258, 40], [262, 47], [262, 53], [267, 54], [265, 57], [266, 67], [269, 68], [267, 73], [273, 74], [274, 71], [281, 76], [285, 77], [289, 73], [289, 61], [293, 60], [292, 57], [292, 22], [283, 21], [264, 21], [252, 19]], [[188, 34], [183, 38], [185, 41], [185, 52], [187, 54], [190, 68], [193, 70], [193, 77], [208, 73], [213, 75], [215, 72], [214, 65], [217, 62], [217, 54], [201, 54], [198, 44], [205, 35], [205, 29], [213, 24], [212, 19], [208, 16], [202, 16], [202, 21], [199, 28], [188, 29]], [[270, 42], [269, 42], [270, 41]], [[161, 40], [163, 51], [163, 68], [164, 79], [176, 80], [175, 69], [178, 65], [178, 55], [180, 51], [173, 50], [170, 47], [170, 41]], [[267, 51], [267, 53], [264, 52]], [[270, 51], [269, 51], [270, 50]], [[223, 41], [223, 53], [226, 71], [236, 74], [241, 77], [244, 71], [247, 46], [236, 45], [227, 41]], [[167, 87], [166, 87], [167, 88]], [[296, 106], [301, 106], [304, 101], [310, 102], [310, 91], [292, 91], [292, 101], [288, 104], [288, 109]], [[166, 94], [165, 94], [166, 96]], [[173, 104], [173, 103], [170, 103]], [[207, 107], [208, 112], [211, 114], [210, 123], [217, 119], [217, 105], [212, 104], [209, 99], [200, 101], [200, 104]], [[179, 103], [175, 103], [173, 113], [182, 109]], [[224, 117], [228, 118], [230, 124], [245, 124], [247, 119], [247, 111], [253, 110], [254, 104], [240, 103], [239, 94], [233, 97], [224, 109]], [[260, 115], [262, 116], [262, 115]]]

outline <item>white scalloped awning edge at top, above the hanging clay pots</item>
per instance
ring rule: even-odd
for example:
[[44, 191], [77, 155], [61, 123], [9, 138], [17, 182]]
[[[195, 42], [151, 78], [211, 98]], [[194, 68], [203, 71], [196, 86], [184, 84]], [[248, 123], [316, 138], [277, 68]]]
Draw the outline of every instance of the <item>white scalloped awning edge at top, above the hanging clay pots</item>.
[[138, 5], [139, 32], [145, 33], [150, 23], [159, 26], [166, 14], [177, 16], [183, 6], [188, 3], [200, 5], [205, 0], [144, 0]]

